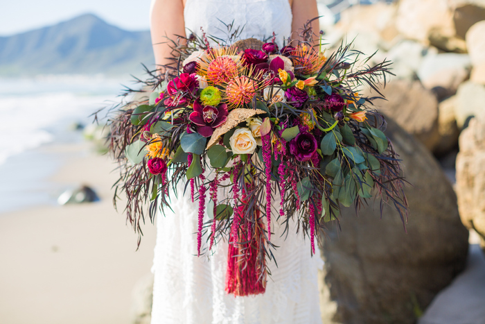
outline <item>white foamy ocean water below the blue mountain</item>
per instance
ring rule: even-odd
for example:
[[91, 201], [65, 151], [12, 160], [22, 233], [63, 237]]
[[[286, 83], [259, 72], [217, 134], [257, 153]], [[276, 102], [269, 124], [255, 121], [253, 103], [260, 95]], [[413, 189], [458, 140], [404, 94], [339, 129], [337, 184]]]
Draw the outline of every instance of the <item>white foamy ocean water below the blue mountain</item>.
[[82, 141], [76, 126], [116, 102], [122, 85], [133, 84], [101, 75], [0, 78], [0, 213], [55, 203], [60, 188], [47, 179], [63, 155], [43, 148]]

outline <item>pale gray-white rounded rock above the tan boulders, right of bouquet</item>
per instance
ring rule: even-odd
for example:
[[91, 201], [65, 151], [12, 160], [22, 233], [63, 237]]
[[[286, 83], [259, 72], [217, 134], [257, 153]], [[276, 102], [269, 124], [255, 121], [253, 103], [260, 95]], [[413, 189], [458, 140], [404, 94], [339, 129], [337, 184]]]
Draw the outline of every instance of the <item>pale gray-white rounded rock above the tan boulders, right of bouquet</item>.
[[467, 54], [440, 53], [423, 59], [418, 77], [439, 101], [457, 92], [461, 83], [470, 76], [471, 61]]

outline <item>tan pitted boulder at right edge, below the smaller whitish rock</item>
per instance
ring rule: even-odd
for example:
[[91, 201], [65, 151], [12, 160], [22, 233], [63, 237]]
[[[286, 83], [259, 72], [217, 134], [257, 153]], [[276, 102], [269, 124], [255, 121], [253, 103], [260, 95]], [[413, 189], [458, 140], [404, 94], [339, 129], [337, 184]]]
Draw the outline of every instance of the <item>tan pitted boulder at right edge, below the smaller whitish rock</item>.
[[485, 118], [470, 120], [461, 132], [457, 156], [457, 196], [461, 221], [481, 237], [485, 249]]

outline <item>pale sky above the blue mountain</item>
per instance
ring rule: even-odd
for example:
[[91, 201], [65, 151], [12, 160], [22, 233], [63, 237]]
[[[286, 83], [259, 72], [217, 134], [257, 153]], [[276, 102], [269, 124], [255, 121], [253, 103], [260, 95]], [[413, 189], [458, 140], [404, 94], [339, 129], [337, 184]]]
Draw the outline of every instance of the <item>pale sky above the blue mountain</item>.
[[0, 36], [93, 13], [130, 31], [148, 30], [151, 0], [0, 0]]

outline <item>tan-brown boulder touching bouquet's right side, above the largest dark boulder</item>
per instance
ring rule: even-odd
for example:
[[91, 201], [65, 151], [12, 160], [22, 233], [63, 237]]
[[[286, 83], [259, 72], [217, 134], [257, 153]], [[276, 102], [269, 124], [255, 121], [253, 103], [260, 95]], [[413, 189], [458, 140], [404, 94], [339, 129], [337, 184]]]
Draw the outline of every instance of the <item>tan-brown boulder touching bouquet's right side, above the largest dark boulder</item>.
[[433, 151], [440, 139], [436, 96], [419, 81], [409, 80], [392, 80], [381, 92], [387, 101], [375, 100], [375, 107]]

